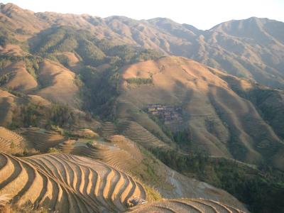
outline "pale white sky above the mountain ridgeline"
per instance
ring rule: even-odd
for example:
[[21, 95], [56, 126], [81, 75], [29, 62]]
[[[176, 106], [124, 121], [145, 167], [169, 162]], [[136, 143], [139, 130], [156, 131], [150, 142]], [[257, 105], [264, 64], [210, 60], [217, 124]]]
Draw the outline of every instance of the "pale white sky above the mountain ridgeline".
[[284, 0], [9, 0], [31, 11], [127, 16], [135, 19], [171, 18], [200, 29], [251, 16], [284, 21]]

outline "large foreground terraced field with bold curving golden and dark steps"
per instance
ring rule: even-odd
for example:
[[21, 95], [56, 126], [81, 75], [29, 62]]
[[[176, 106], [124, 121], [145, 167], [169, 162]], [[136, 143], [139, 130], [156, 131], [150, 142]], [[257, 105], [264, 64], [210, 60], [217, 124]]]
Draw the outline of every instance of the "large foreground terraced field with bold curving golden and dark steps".
[[12, 204], [31, 203], [58, 212], [122, 212], [143, 186], [111, 166], [75, 155], [16, 158], [0, 153], [0, 194]]

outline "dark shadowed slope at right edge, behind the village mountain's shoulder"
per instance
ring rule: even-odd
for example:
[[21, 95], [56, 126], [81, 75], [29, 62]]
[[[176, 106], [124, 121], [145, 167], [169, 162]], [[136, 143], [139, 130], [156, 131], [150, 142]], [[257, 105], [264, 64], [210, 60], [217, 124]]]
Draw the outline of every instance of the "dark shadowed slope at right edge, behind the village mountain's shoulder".
[[[246, 79], [239, 79], [232, 75], [226, 75], [224, 72], [218, 70], [211, 70], [214, 75], [221, 77], [228, 82], [229, 86], [241, 97], [249, 99], [254, 106], [260, 111], [263, 119], [273, 128], [275, 133], [280, 138], [284, 138], [283, 124], [284, 124], [284, 92], [280, 89], [271, 89], [259, 84], [255, 84]], [[266, 148], [270, 146], [269, 140], [263, 136], [263, 141], [258, 143], [259, 148]], [[278, 150], [278, 153], [273, 158], [278, 168], [283, 169], [283, 148]]]

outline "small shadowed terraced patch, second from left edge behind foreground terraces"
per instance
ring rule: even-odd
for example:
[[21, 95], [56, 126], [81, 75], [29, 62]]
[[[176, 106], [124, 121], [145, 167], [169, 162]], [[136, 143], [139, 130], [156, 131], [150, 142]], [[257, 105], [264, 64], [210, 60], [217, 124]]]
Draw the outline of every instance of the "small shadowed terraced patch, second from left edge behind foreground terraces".
[[31, 146], [33, 148], [41, 152], [46, 152], [48, 151], [48, 148], [57, 146], [62, 141], [66, 140], [66, 138], [61, 136], [60, 133], [35, 127], [22, 129], [21, 135], [32, 143]]

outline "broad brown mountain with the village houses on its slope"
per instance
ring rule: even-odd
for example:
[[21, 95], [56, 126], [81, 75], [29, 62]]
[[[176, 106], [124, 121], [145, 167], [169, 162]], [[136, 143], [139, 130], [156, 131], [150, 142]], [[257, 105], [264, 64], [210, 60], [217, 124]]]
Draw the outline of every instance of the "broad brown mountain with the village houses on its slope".
[[[185, 149], [207, 151], [209, 155], [236, 158], [253, 164], [268, 159], [274, 165], [282, 164], [280, 153], [284, 143], [277, 134], [281, 131], [276, 126], [273, 129], [268, 125], [263, 116], [265, 111], [256, 106], [256, 103], [261, 101], [264, 104], [266, 100], [259, 94], [253, 102], [234, 91], [234, 87], [244, 94], [258, 90], [253, 83], [178, 57], [138, 62], [124, 67], [120, 73], [121, 92], [116, 101], [118, 121], [136, 121], [162, 138], [163, 132], [168, 133], [168, 137], [163, 139], [166, 142], [175, 138], [175, 135], [169, 138], [169, 132], [163, 131], [166, 128], [170, 133], [183, 133], [186, 135], [186, 141], [182, 143]], [[151, 82], [138, 82], [149, 79], [149, 76]], [[270, 91], [281, 95], [278, 101], [280, 108], [283, 108], [283, 92]], [[163, 107], [180, 107], [180, 124], [176, 124], [174, 119], [178, 111], [167, 122], [171, 109], [162, 117], [155, 116], [160, 120], [155, 124], [149, 106], [157, 103]], [[283, 121], [280, 123], [283, 124]], [[280, 161], [276, 163], [276, 159]], [[283, 169], [282, 166], [280, 168]]]

